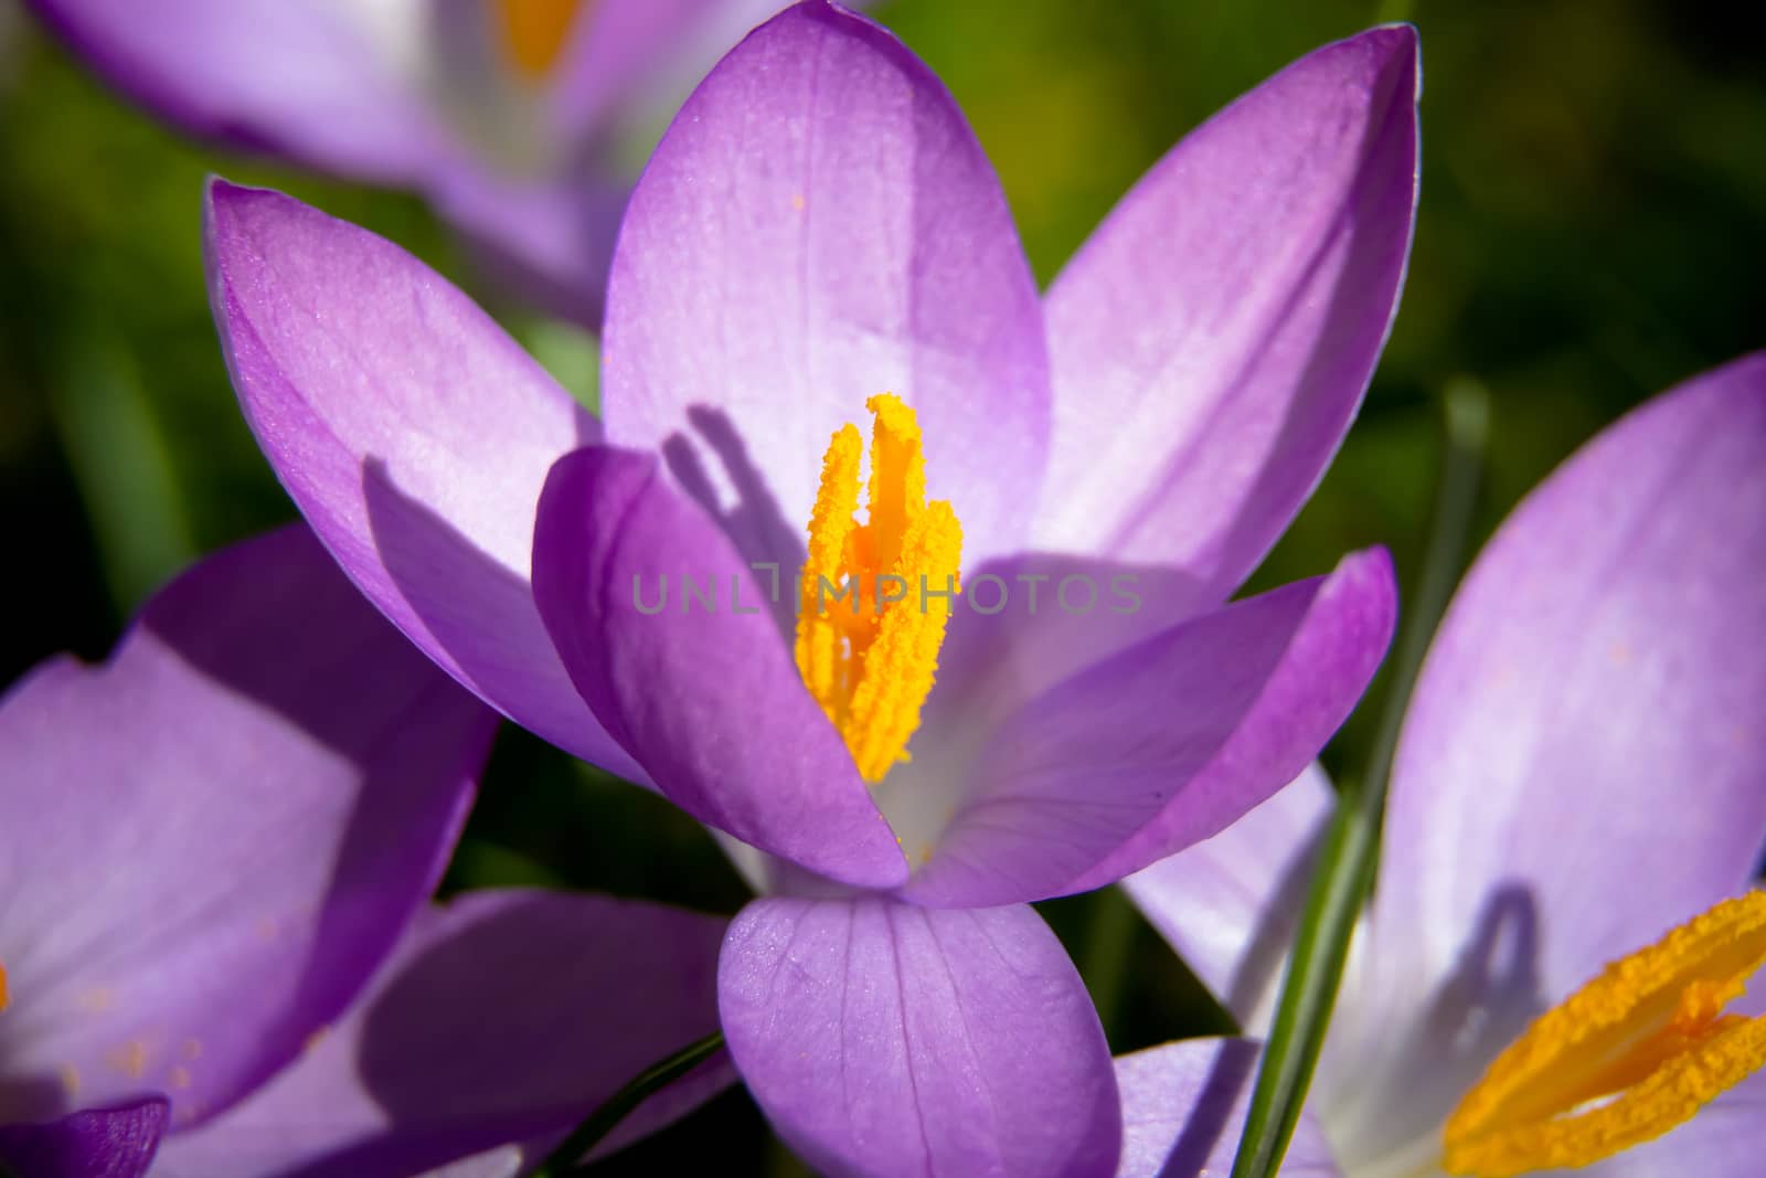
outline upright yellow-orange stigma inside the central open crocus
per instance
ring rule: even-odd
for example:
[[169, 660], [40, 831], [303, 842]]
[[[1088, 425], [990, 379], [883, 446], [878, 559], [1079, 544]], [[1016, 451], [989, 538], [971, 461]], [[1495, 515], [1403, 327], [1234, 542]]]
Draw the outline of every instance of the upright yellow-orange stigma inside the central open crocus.
[[959, 592], [962, 526], [950, 503], [925, 502], [920, 422], [901, 397], [865, 401], [871, 495], [858, 523], [857, 426], [841, 426], [821, 459], [809, 517], [796, 620], [796, 669], [839, 729], [858, 774], [883, 781], [908, 759], [920, 705]]

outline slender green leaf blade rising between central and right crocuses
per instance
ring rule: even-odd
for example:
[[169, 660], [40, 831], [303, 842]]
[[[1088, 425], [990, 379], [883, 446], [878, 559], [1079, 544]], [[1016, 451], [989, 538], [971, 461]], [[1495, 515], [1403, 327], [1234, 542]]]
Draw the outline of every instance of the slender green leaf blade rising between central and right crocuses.
[[1245, 1118], [1245, 1136], [1233, 1159], [1233, 1178], [1272, 1178], [1287, 1153], [1305, 1102], [1337, 985], [1349, 955], [1356, 918], [1374, 883], [1379, 823], [1386, 805], [1392, 758], [1404, 724], [1416, 673], [1453, 590], [1489, 420], [1489, 399], [1464, 380], [1446, 390], [1446, 456], [1436, 491], [1429, 551], [1411, 599], [1404, 632], [1392, 661], [1392, 685], [1367, 772], [1342, 784], [1324, 846], [1307, 890], [1300, 933], [1282, 978], [1280, 1005], [1257, 1067], [1257, 1086]]

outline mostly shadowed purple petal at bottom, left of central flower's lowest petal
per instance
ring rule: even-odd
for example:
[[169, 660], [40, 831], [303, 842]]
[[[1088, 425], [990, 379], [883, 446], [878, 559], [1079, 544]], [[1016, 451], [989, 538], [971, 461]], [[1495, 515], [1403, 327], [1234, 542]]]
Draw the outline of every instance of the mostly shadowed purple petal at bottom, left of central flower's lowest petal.
[[[505, 1144], [528, 1144], [532, 1164], [641, 1070], [717, 1030], [724, 924], [599, 895], [468, 892], [411, 931], [295, 1067], [171, 1137], [154, 1173], [404, 1178]], [[608, 1144], [733, 1079], [728, 1060], [701, 1065]]]

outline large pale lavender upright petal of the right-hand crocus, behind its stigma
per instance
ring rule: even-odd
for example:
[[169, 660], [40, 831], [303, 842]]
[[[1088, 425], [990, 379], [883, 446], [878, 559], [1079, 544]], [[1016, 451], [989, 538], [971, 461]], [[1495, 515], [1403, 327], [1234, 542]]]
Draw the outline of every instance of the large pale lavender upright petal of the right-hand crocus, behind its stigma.
[[1404, 722], [1333, 1118], [1438, 1125], [1533, 1014], [1748, 887], [1762, 567], [1766, 355], [1625, 417], [1503, 525]]

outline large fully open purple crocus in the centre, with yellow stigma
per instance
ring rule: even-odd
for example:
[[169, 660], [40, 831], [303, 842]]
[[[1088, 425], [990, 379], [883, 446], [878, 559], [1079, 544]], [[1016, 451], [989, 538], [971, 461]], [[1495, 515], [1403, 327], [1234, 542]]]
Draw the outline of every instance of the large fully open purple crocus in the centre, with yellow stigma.
[[[1385, 553], [1224, 602], [1390, 323], [1415, 58], [1381, 28], [1284, 71], [1042, 298], [938, 79], [796, 5], [712, 71], [632, 196], [602, 422], [390, 244], [210, 189], [245, 417], [351, 579], [505, 715], [756, 867], [722, 1026], [819, 1169], [1114, 1167], [1104, 1035], [1028, 902], [1266, 798], [1385, 652]], [[860, 615], [784, 585], [798, 565], [855, 578]]]

